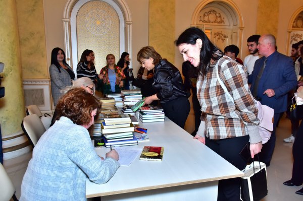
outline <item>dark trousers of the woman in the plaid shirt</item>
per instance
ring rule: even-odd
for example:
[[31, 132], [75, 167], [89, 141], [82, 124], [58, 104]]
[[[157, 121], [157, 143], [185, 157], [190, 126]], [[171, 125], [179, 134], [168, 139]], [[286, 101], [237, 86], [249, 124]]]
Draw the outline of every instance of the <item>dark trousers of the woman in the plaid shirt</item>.
[[[242, 159], [239, 153], [248, 140], [249, 136], [222, 140], [210, 140], [209, 138], [206, 138], [205, 144], [233, 166], [239, 170], [243, 170], [246, 166], [246, 161]], [[240, 178], [219, 180], [218, 201], [228, 200], [240, 200]]]

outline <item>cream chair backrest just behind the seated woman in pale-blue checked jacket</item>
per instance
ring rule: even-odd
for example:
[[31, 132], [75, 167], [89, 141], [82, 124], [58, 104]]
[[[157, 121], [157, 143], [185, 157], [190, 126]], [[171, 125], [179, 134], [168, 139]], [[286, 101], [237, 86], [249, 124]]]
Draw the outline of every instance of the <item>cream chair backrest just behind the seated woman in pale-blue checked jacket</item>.
[[45, 132], [45, 127], [37, 114], [30, 114], [23, 118], [21, 127], [33, 147]]

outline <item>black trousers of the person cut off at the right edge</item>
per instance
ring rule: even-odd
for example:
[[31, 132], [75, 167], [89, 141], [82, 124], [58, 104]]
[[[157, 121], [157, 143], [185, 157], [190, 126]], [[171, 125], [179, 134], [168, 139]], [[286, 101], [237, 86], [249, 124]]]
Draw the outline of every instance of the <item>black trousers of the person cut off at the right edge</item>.
[[300, 123], [292, 146], [293, 166], [291, 180], [295, 185], [303, 183], [303, 121]]

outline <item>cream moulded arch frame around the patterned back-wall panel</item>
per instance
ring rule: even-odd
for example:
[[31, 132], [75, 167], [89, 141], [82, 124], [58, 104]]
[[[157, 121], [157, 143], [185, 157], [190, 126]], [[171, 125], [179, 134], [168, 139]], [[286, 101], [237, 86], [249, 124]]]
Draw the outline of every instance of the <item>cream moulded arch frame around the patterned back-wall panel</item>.
[[[76, 73], [78, 63], [76, 15], [84, 4], [91, 0], [68, 0], [63, 13], [64, 42], [67, 62]], [[101, 1], [101, 0], [100, 0]], [[111, 5], [120, 20], [120, 55], [123, 51], [132, 52], [132, 19], [130, 10], [124, 0], [102, 0]], [[120, 57], [117, 55], [117, 59]], [[74, 56], [74, 57], [73, 57]], [[132, 65], [131, 65], [132, 66]]]

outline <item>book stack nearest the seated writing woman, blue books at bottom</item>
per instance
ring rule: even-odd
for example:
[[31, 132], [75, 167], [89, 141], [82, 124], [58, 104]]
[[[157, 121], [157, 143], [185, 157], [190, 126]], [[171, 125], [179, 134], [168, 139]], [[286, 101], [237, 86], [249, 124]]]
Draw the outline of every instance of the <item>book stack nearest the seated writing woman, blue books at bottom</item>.
[[106, 115], [101, 124], [105, 147], [137, 145], [134, 125], [127, 114]]

